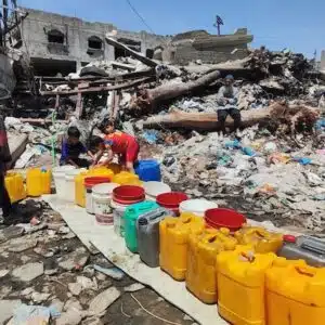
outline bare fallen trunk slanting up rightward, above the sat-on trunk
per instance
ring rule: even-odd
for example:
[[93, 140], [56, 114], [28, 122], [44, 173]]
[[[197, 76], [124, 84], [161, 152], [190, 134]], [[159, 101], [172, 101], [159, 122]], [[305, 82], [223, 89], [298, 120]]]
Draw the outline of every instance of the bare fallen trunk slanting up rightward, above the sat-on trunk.
[[185, 95], [193, 91], [205, 88], [216, 81], [220, 77], [219, 72], [207, 74], [195, 81], [174, 82], [169, 81], [154, 89], [142, 90], [140, 95], [132, 102], [130, 108], [155, 108], [155, 105], [161, 101], [168, 101]]

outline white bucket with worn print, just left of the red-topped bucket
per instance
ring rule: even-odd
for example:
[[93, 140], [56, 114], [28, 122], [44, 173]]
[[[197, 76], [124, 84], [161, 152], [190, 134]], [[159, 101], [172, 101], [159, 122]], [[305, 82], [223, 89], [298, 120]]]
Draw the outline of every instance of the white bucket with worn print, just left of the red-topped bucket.
[[92, 205], [99, 224], [112, 225], [114, 223], [110, 199], [113, 190], [119, 184], [103, 183], [92, 187]]

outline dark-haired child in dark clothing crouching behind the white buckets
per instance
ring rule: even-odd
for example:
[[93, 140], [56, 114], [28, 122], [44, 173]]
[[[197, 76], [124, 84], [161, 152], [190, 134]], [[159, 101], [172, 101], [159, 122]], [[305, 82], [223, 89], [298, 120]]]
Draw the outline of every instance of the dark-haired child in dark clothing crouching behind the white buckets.
[[62, 143], [60, 165], [88, 168], [90, 162], [87, 159], [79, 158], [79, 156], [81, 154], [88, 154], [92, 159], [94, 159], [94, 156], [91, 152], [87, 151], [86, 146], [80, 142], [80, 131], [76, 127], [69, 127], [67, 135], [67, 139]]

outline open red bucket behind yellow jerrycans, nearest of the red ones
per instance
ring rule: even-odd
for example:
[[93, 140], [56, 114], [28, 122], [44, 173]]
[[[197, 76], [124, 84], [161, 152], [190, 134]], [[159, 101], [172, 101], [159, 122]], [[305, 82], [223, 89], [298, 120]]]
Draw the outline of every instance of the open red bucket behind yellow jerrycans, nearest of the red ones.
[[226, 227], [235, 232], [246, 223], [246, 218], [235, 210], [217, 208], [206, 211], [205, 221], [210, 227]]

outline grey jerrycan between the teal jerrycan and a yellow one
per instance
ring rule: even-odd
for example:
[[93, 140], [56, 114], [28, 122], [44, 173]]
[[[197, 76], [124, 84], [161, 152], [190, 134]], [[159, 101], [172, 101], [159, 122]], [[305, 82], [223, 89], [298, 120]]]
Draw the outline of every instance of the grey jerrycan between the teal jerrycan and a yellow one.
[[139, 255], [151, 268], [159, 266], [159, 222], [167, 216], [168, 210], [158, 208], [141, 216], [136, 222]]

